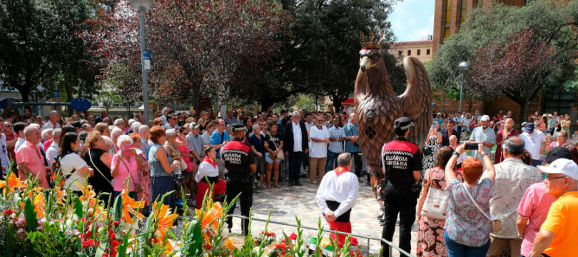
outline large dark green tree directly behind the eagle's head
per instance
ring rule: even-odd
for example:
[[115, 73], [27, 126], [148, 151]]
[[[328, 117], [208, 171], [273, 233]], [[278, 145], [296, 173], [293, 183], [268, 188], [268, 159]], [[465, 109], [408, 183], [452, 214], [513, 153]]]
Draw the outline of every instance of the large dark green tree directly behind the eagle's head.
[[359, 69], [360, 31], [385, 34], [383, 53], [396, 88], [405, 84], [399, 60], [387, 52], [394, 40], [387, 16], [397, 0], [281, 1], [293, 16], [290, 31], [280, 35], [280, 54], [263, 65], [255, 91], [263, 110], [296, 93], [328, 95], [336, 108], [352, 93]]

